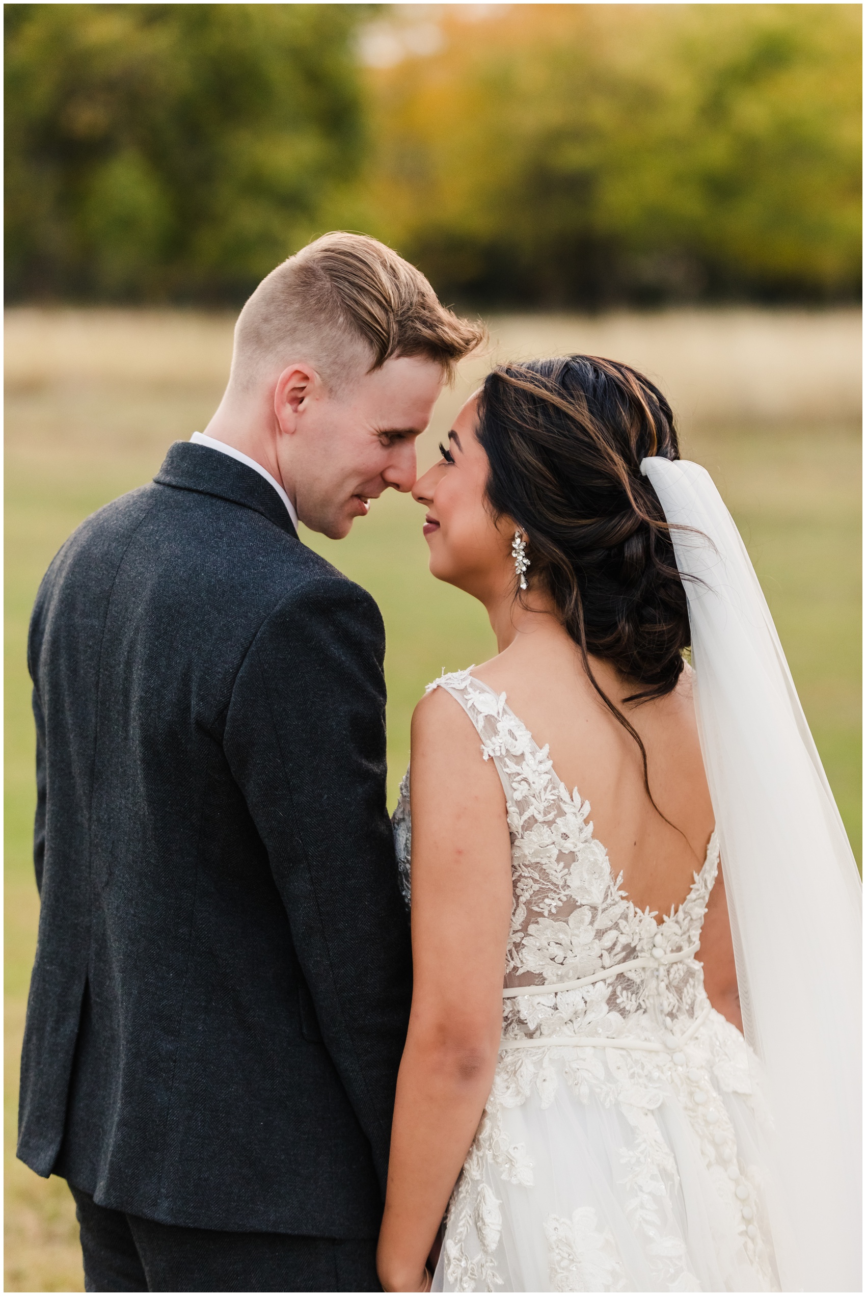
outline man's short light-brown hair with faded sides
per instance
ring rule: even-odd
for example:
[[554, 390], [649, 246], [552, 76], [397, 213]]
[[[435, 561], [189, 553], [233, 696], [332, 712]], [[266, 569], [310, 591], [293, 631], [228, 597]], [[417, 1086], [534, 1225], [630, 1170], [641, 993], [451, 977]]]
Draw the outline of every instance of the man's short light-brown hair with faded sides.
[[397, 355], [440, 364], [447, 377], [485, 337], [441, 306], [414, 266], [366, 235], [330, 233], [261, 280], [234, 328], [232, 381], [251, 388], [304, 356], [329, 390]]

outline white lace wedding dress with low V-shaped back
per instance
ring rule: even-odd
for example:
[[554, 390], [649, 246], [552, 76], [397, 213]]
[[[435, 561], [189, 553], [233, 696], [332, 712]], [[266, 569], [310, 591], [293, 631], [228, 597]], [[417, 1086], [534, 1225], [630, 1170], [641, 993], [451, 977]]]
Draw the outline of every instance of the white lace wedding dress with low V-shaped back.
[[[430, 688], [496, 765], [514, 884], [502, 1043], [434, 1290], [777, 1291], [747, 1046], [695, 959], [716, 835], [656, 923], [505, 693], [469, 670]], [[409, 899], [409, 774], [394, 824]]]

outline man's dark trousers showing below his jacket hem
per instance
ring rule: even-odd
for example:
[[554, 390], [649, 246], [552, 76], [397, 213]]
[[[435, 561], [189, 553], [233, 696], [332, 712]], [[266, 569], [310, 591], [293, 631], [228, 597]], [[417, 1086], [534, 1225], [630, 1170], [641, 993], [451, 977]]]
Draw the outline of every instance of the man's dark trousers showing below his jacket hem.
[[378, 1292], [375, 1242], [181, 1229], [70, 1183], [88, 1292]]

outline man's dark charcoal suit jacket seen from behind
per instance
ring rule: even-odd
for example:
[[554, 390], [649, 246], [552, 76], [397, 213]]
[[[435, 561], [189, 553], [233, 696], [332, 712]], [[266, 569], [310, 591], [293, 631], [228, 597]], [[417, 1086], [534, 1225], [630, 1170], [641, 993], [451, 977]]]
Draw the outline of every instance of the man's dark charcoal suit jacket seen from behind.
[[410, 1001], [384, 631], [277, 492], [177, 442], [32, 614], [18, 1155], [175, 1225], [374, 1236]]

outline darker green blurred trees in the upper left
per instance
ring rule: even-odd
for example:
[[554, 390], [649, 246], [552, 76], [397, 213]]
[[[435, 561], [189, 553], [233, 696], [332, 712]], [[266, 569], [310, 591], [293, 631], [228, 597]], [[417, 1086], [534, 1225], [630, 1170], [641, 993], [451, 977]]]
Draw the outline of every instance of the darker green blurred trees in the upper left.
[[362, 157], [366, 6], [8, 6], [12, 295], [243, 295]]

